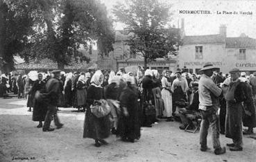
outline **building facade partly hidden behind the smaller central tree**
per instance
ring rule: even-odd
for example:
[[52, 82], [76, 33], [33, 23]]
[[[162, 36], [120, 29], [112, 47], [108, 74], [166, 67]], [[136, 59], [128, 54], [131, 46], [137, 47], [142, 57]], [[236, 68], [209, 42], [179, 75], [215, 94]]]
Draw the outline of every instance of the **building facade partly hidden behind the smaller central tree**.
[[[138, 53], [133, 53], [128, 46], [128, 36], [123, 33], [123, 30], [117, 30], [115, 35], [115, 42], [113, 44], [114, 51], [111, 51], [108, 56], [103, 56], [98, 59], [100, 69], [110, 69], [118, 71], [122, 68], [144, 66], [144, 58]], [[149, 69], [157, 69], [163, 71], [164, 69], [176, 71], [177, 57], [159, 58], [153, 62], [148, 62]]]

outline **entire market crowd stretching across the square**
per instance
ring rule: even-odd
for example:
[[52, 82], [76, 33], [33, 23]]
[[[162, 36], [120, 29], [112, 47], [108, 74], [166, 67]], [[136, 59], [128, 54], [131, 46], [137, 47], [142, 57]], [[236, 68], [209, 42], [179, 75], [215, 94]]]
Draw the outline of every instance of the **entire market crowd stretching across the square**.
[[[95, 146], [108, 144], [110, 133], [122, 141], [139, 140], [141, 127], [166, 120], [180, 122], [180, 129], [195, 129], [189, 115], [201, 119], [200, 150], [207, 147], [208, 128], [212, 129], [215, 154], [225, 153], [219, 134], [232, 138], [227, 144], [232, 151], [243, 150], [243, 134], [253, 134], [256, 127], [256, 72], [251, 75], [230, 70], [224, 75], [209, 62], [200, 75], [177, 69], [163, 71], [139, 66], [137, 73], [124, 71], [87, 71], [65, 73], [4, 73], [1, 75], [0, 97], [27, 99], [28, 111], [33, 108], [33, 121], [44, 132], [63, 127], [58, 107], [74, 107], [85, 112], [84, 138], [92, 138]], [[44, 123], [43, 123], [44, 122]], [[243, 131], [244, 127], [248, 127]]]

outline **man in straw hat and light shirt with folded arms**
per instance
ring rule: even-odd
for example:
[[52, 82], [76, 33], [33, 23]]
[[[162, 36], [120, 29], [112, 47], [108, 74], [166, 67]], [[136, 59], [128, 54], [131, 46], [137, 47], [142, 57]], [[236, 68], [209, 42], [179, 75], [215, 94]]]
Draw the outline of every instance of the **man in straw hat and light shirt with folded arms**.
[[207, 134], [209, 126], [212, 128], [212, 143], [214, 147], [214, 154], [224, 154], [225, 147], [221, 147], [219, 141], [219, 116], [216, 112], [219, 109], [219, 96], [221, 96], [221, 88], [214, 84], [211, 76], [216, 67], [212, 63], [207, 62], [200, 69], [202, 73], [198, 83], [199, 93], [199, 109], [202, 116], [202, 123], [200, 126], [200, 150], [205, 152], [207, 147]]

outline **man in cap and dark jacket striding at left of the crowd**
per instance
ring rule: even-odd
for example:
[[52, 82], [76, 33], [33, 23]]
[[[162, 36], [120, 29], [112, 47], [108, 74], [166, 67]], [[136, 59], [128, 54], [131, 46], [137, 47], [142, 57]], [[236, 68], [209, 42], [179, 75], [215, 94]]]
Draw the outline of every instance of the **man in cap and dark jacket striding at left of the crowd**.
[[50, 128], [51, 119], [54, 116], [54, 123], [56, 125], [56, 129], [60, 129], [63, 124], [60, 123], [57, 116], [57, 105], [58, 98], [60, 94], [60, 70], [54, 70], [51, 72], [53, 74], [53, 78], [48, 80], [46, 83], [46, 98], [48, 104], [48, 111], [46, 113], [44, 119], [43, 132], [53, 131], [53, 128]]

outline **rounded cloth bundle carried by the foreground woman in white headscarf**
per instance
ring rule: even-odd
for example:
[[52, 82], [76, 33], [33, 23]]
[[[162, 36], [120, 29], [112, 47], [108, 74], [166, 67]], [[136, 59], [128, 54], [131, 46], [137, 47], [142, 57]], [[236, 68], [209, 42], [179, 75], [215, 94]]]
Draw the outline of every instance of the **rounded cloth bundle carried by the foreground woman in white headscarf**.
[[111, 110], [110, 105], [108, 105], [108, 102], [103, 99], [94, 102], [94, 106], [91, 105], [90, 108], [92, 114], [94, 114], [94, 116], [96, 116], [97, 118], [107, 116], [108, 114], [110, 114]]

